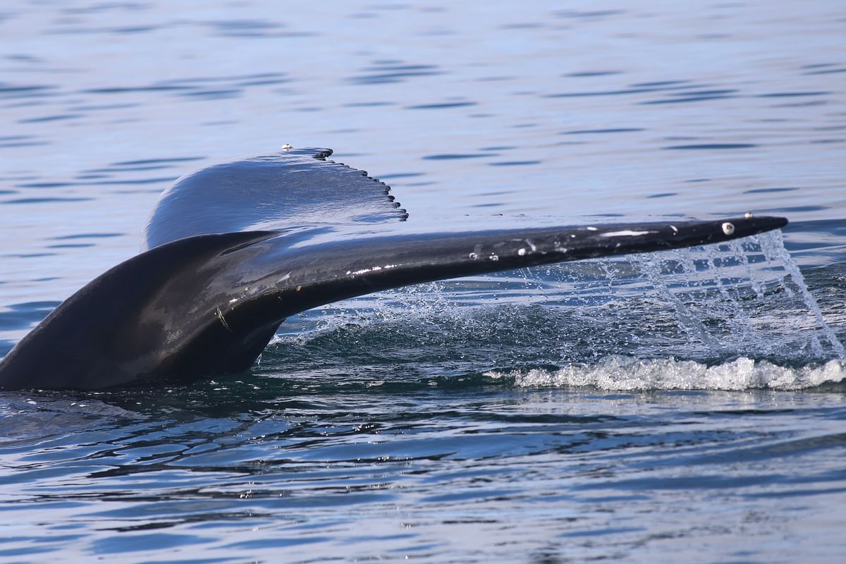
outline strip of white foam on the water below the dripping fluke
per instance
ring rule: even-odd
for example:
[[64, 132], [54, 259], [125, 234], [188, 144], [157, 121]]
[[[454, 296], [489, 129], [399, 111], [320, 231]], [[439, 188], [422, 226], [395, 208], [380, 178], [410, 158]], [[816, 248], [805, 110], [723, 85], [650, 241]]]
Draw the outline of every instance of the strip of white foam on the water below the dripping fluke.
[[694, 360], [634, 359], [610, 356], [596, 364], [572, 364], [560, 370], [489, 372], [514, 378], [518, 387], [595, 386], [602, 390], [801, 390], [846, 379], [846, 361], [798, 368], [766, 360], [739, 359], [709, 366]]

